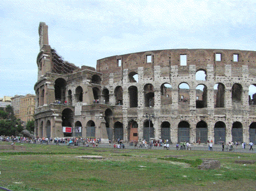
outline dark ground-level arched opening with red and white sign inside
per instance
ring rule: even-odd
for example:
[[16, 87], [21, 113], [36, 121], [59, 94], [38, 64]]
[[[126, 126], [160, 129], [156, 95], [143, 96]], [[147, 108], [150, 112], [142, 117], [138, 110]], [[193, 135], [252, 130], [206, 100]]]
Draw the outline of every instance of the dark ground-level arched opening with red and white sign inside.
[[71, 109], [67, 108], [67, 109], [64, 109], [61, 114], [62, 114], [61, 125], [63, 126], [63, 135], [64, 137], [72, 137], [72, 121], [74, 118], [74, 113], [72, 112]]

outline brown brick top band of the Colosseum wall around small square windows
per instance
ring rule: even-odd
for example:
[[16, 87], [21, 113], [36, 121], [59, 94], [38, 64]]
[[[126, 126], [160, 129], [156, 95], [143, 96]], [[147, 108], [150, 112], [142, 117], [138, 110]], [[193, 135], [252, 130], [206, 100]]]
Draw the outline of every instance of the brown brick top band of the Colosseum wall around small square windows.
[[[216, 54], [221, 55], [220, 61], [216, 61]], [[237, 61], [234, 61], [234, 54]], [[187, 65], [180, 66], [180, 55], [187, 56]], [[151, 61], [147, 62], [147, 56], [151, 56]], [[118, 66], [118, 59], [122, 60], [122, 66]], [[171, 49], [152, 50], [147, 52], [137, 52], [121, 56], [112, 56], [97, 61], [97, 72], [104, 74], [104, 79], [109, 80], [108, 73], [114, 73], [115, 82], [122, 80], [122, 70], [128, 69], [129, 73], [138, 71], [139, 67], [144, 68], [144, 77], [154, 78], [154, 66], [161, 66], [161, 77], [170, 76], [172, 66], [178, 67], [179, 76], [189, 75], [189, 65], [195, 65], [197, 70], [205, 70], [207, 66], [213, 65], [214, 76], [225, 77], [225, 66], [231, 65], [232, 77], [242, 77], [243, 65], [249, 69], [249, 77], [255, 77], [256, 52], [246, 50], [223, 50], [223, 49]]]

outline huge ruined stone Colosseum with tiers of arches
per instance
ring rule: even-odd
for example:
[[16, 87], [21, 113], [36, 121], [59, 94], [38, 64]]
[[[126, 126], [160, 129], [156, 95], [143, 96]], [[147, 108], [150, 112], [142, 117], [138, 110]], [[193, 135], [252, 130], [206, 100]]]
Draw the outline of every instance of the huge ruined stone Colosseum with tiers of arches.
[[64, 61], [40, 22], [35, 135], [256, 143], [256, 52], [170, 49]]

